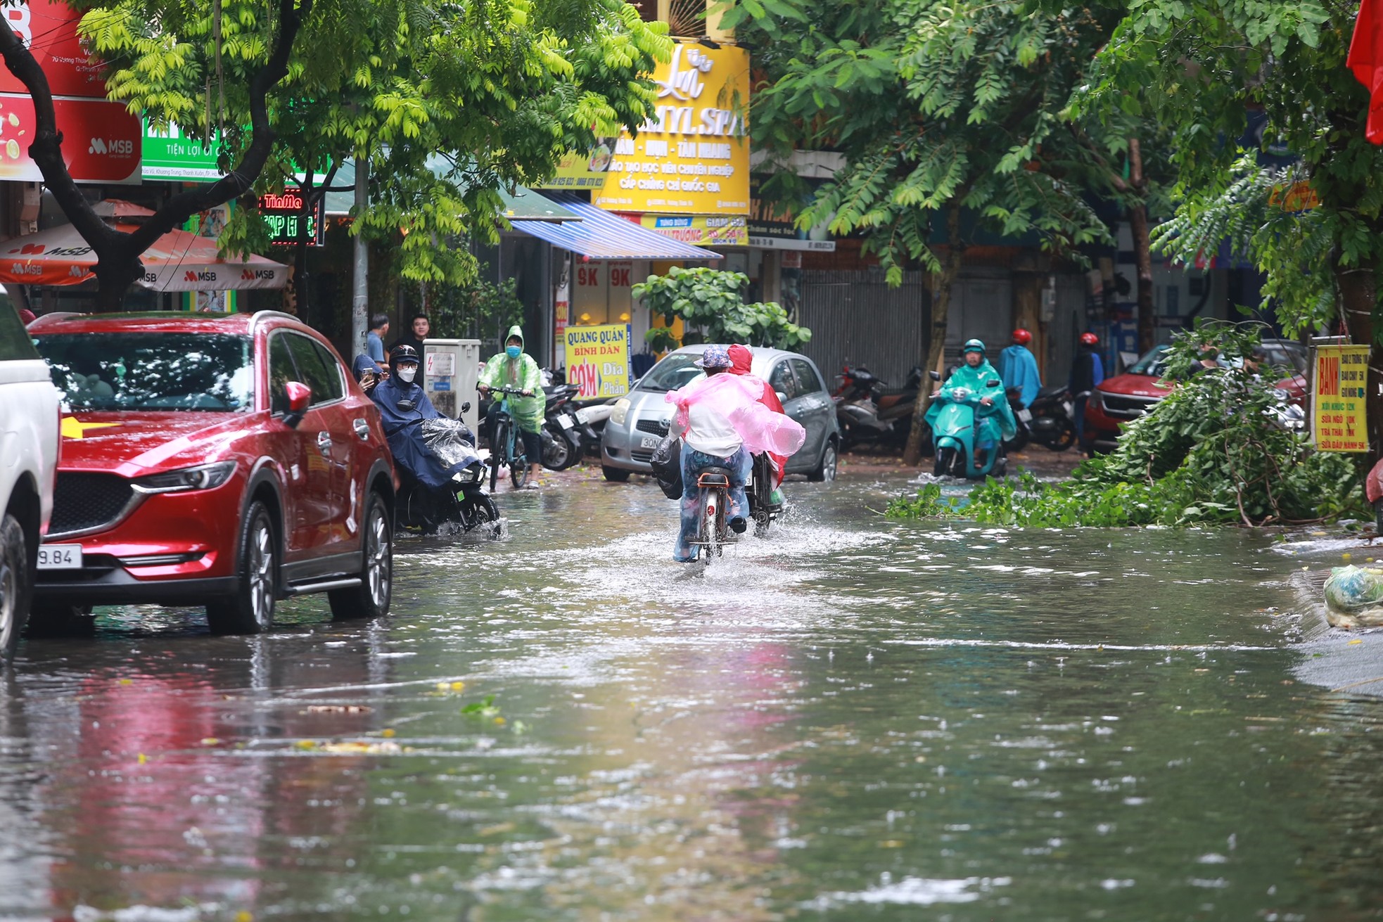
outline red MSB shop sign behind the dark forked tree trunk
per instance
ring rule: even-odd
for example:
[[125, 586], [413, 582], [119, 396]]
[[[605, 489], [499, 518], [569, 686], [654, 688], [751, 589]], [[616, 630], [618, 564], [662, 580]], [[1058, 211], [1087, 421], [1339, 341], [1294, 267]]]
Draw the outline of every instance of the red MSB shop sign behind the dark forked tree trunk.
[[[62, 160], [77, 182], [140, 182], [144, 126], [123, 102], [54, 100], [62, 131]], [[0, 94], [0, 180], [41, 182], [29, 159], [33, 144], [33, 100]]]

